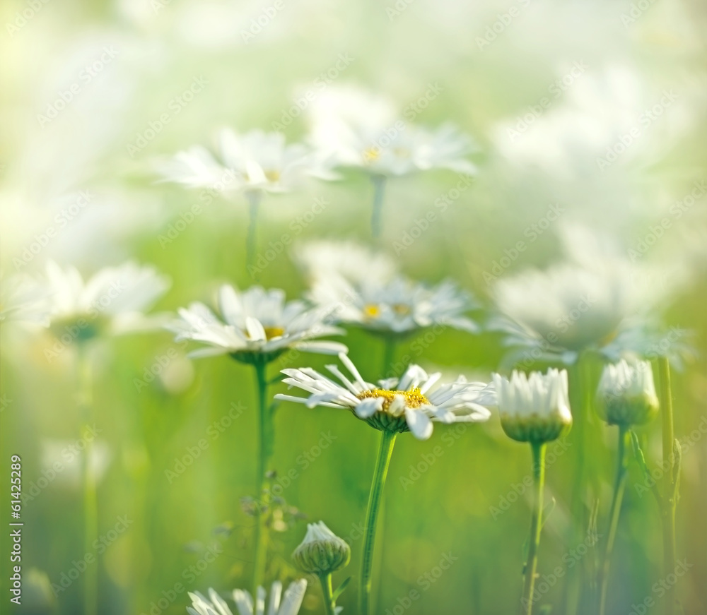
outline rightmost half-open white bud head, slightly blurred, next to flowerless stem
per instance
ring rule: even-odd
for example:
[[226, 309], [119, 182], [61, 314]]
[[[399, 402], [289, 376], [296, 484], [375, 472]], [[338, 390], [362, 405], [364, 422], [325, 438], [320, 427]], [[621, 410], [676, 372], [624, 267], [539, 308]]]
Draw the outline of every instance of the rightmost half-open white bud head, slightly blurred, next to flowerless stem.
[[597, 412], [609, 425], [642, 425], [658, 412], [653, 370], [648, 361], [604, 367], [597, 389]]

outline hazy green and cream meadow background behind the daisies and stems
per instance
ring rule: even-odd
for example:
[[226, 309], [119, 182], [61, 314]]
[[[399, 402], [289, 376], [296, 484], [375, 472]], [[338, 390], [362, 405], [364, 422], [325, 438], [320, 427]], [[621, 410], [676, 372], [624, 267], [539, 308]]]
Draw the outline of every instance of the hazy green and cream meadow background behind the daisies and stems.
[[[662, 265], [656, 292], [679, 279], [663, 316], [669, 328], [693, 330], [690, 342], [701, 354], [674, 371], [675, 432], [684, 448], [677, 549], [689, 565], [678, 595], [686, 614], [705, 612], [704, 4], [6, 0], [0, 25], [4, 277], [41, 274], [50, 258], [85, 275], [132, 258], [172, 280], [158, 311], [211, 302], [219, 282], [252, 285], [243, 197], [216, 198], [193, 215], [199, 191], [159, 183], [158, 162], [209, 145], [221, 126], [281, 130], [288, 141], [303, 140], [317, 98], [356, 85], [389, 97], [404, 121], [450, 121], [472, 136], [477, 177], [461, 192], [452, 171], [390, 180], [375, 241], [372, 189], [360, 174], [269, 195], [260, 253], [269, 247], [274, 256], [266, 257], [260, 284], [292, 298], [307, 287], [292, 246], [281, 246], [284, 235], [293, 244], [356, 239], [397, 258], [411, 277], [452, 278], [489, 306], [494, 277], [561, 258], [566, 225], [612, 237], [631, 261]], [[425, 222], [428, 213], [432, 222]], [[397, 358], [488, 381], [503, 359], [499, 339], [430, 331], [401, 345]], [[380, 342], [355, 330], [344, 341], [363, 375], [377, 378]], [[76, 354], [67, 347], [48, 356], [53, 345], [47, 331], [3, 328], [1, 462], [21, 455], [31, 496], [23, 506], [25, 604], [17, 612], [74, 615], [82, 612], [80, 580], [56, 596], [52, 584], [60, 587], [85, 555], [79, 463], [66, 455], [80, 424]], [[253, 519], [240, 498], [255, 489], [252, 370], [224, 357], [192, 362], [189, 350], [158, 331], [102, 340], [93, 354], [98, 530], [107, 537], [98, 564], [101, 615], [184, 614], [187, 590], [250, 584]], [[160, 362], [164, 369], [155, 367]], [[327, 362], [297, 359], [317, 369]], [[601, 367], [593, 367], [598, 380]], [[349, 413], [293, 404], [281, 405], [276, 429], [273, 465], [291, 477], [282, 483], [283, 497], [351, 543], [351, 565], [335, 581], [356, 575], [377, 432]], [[600, 429], [603, 519], [615, 436]], [[660, 422], [641, 434], [658, 465]], [[193, 462], [180, 471], [178, 460], [189, 455]], [[652, 496], [634, 488], [641, 476], [631, 460], [611, 615], [660, 598], [653, 589], [661, 578], [660, 517]], [[62, 470], [40, 482], [57, 461]], [[376, 552], [377, 612], [515, 612], [530, 518], [527, 494], [517, 491], [529, 469], [527, 446], [506, 438], [496, 416], [440, 427], [426, 442], [398, 438]], [[562, 455], [548, 469], [556, 506], [544, 528], [541, 575], [590, 565], [583, 544], [567, 539], [571, 470]], [[9, 493], [5, 468], [0, 484]], [[33, 484], [44, 485], [34, 496]], [[0, 519], [8, 522], [8, 506]], [[297, 578], [289, 554], [305, 523], [283, 520], [270, 579]], [[453, 563], [437, 578], [445, 558]], [[411, 590], [416, 599], [409, 599]], [[349, 589], [340, 599], [344, 615], [356, 612], [355, 595]], [[561, 601], [562, 584], [551, 584], [542, 602], [561, 614]], [[314, 583], [300, 612], [323, 612]]]

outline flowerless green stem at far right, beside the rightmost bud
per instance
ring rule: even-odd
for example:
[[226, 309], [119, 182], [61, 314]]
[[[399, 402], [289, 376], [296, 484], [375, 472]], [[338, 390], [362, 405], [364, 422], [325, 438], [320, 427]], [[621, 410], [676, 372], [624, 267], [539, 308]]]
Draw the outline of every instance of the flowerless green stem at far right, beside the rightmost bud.
[[[660, 416], [662, 429], [662, 457], [665, 470], [665, 486], [662, 496], [662, 531], [663, 531], [663, 578], [674, 574], [677, 548], [675, 546], [675, 434], [672, 418], [672, 388], [670, 386], [670, 362], [666, 357], [658, 359], [660, 377]], [[675, 612], [675, 586], [667, 590], [665, 596], [665, 615]]]

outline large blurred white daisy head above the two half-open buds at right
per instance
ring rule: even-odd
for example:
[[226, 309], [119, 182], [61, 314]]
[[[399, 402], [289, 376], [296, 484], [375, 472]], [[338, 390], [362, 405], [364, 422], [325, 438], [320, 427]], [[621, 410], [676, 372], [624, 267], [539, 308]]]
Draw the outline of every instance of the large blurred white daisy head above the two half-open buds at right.
[[[566, 227], [563, 239], [569, 253], [565, 263], [493, 284], [500, 316], [489, 327], [506, 333], [506, 345], [518, 348], [507, 363], [524, 357], [573, 363], [583, 350], [602, 351], [673, 290], [655, 283], [657, 270], [633, 265], [589, 229]], [[621, 340], [640, 346], [636, 332]], [[611, 347], [614, 353], [631, 350]]]

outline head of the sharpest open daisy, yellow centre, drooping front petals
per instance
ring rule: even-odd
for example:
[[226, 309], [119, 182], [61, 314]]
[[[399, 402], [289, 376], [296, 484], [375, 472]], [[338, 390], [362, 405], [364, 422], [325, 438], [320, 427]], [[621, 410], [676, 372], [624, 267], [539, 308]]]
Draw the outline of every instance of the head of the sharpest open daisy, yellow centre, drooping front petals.
[[432, 435], [432, 422], [481, 422], [489, 419], [487, 406], [495, 405], [493, 387], [481, 382], [467, 382], [459, 376], [454, 382], [431, 390], [441, 374], [427, 374], [419, 365], [411, 365], [401, 378], [381, 380], [378, 386], [361, 378], [358, 369], [345, 354], [341, 363], [352, 379], [336, 365], [327, 369], [341, 384], [310, 368], [284, 369], [283, 382], [311, 393], [308, 398], [275, 395], [276, 399], [303, 403], [307, 407], [326, 406], [351, 410], [356, 417], [380, 431], [411, 431], [420, 440]]

